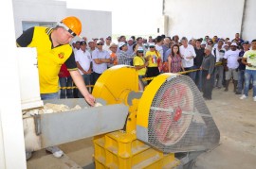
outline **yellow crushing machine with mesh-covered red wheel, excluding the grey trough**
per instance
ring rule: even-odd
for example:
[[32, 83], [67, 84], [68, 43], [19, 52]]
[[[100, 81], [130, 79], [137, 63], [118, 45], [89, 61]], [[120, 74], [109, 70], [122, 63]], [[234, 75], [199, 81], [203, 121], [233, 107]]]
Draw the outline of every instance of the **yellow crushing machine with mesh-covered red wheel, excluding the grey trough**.
[[[98, 79], [93, 95], [125, 104], [119, 131], [94, 138], [96, 168], [192, 168], [198, 155], [219, 144], [220, 133], [189, 76], [162, 74], [145, 88], [134, 67], [115, 66]], [[141, 89], [141, 87], [140, 87]]]

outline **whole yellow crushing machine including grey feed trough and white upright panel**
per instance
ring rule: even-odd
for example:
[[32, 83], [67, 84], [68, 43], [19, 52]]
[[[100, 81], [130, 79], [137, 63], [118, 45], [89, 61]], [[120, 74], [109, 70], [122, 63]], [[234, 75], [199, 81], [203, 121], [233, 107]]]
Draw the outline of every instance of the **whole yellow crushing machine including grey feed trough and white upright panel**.
[[[98, 169], [191, 168], [200, 153], [219, 144], [219, 130], [188, 76], [162, 74], [141, 90], [136, 69], [119, 65], [106, 70], [94, 86], [101, 107], [91, 108], [83, 99], [43, 102], [36, 51], [20, 48], [19, 54], [29, 151], [94, 136]], [[44, 111], [46, 103], [82, 109], [51, 113]]]

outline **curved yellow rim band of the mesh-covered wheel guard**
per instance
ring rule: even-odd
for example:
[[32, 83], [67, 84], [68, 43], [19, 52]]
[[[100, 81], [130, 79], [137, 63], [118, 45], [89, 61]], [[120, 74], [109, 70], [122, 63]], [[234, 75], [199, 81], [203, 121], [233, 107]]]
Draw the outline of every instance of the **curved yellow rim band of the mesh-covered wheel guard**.
[[139, 105], [137, 108], [137, 126], [148, 127], [150, 107], [155, 97], [155, 93], [159, 90], [161, 85], [170, 76], [177, 76], [171, 73], [161, 74], [156, 76], [150, 85], [147, 86], [140, 98]]

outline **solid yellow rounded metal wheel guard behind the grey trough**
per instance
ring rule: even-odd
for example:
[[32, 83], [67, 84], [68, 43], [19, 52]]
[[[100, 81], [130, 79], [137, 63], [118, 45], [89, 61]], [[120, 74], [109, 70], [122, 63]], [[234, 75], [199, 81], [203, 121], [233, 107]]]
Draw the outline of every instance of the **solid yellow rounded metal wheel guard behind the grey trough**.
[[138, 92], [137, 71], [132, 66], [119, 65], [107, 69], [97, 80], [93, 95], [107, 104], [123, 103], [128, 106], [127, 96]]

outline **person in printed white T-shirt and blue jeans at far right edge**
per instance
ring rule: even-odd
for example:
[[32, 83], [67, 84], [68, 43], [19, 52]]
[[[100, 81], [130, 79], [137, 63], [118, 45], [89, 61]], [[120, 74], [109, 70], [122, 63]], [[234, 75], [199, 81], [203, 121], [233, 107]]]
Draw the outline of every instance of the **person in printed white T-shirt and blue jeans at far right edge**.
[[242, 62], [247, 67], [245, 72], [246, 83], [244, 94], [240, 99], [246, 99], [248, 97], [249, 83], [252, 80], [252, 97], [253, 101], [256, 101], [256, 39], [252, 40], [251, 49], [244, 54]]

